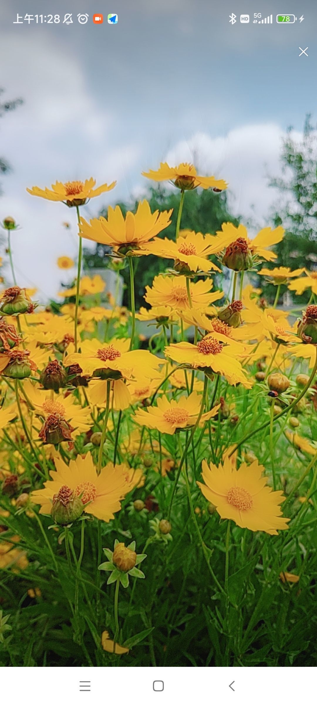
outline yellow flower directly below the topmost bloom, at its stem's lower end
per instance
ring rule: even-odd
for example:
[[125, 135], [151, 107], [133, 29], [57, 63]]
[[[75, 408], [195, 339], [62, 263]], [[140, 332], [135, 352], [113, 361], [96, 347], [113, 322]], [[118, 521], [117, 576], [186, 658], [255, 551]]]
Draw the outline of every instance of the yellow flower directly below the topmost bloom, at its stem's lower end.
[[209, 255], [214, 252], [213, 235], [202, 235], [194, 231], [183, 230], [176, 242], [168, 238], [155, 238], [147, 246], [147, 251], [151, 255], [158, 255], [166, 259], [174, 259], [174, 269], [182, 274], [194, 274], [197, 271], [208, 272], [211, 269], [220, 271], [216, 264], [213, 264]]

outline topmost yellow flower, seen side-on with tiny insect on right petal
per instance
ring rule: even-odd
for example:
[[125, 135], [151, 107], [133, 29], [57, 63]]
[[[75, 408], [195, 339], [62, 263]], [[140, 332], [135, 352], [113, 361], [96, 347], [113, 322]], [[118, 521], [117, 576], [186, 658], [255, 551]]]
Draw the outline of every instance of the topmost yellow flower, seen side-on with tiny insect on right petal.
[[212, 188], [216, 193], [228, 188], [228, 184], [223, 179], [216, 179], [214, 176], [198, 176], [193, 164], [182, 163], [178, 166], [168, 166], [166, 162], [161, 162], [157, 171], [142, 171], [142, 176], [150, 178], [152, 181], [171, 181], [181, 191], [192, 191], [197, 186], [200, 188]]

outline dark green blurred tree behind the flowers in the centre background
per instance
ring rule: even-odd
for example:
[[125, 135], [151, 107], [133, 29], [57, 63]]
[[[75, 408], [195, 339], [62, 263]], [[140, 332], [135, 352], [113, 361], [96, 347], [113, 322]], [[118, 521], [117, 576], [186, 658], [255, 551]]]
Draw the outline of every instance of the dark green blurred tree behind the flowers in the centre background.
[[[175, 225], [178, 216], [180, 192], [170, 192], [166, 190], [166, 188], [162, 188], [162, 186], [159, 185], [158, 187], [151, 188], [149, 190], [148, 200], [152, 212], [156, 209], [162, 211], [173, 208], [172, 222], [170, 223], [170, 226], [168, 226], [168, 228], [161, 233], [161, 237], [167, 237], [170, 239], [175, 238]], [[125, 214], [128, 209], [132, 210], [132, 212], [135, 212], [137, 209], [137, 201], [132, 208], [128, 204], [122, 202], [119, 203], [119, 205], [123, 211], [123, 214]], [[100, 215], [106, 217], [106, 210], [101, 211]], [[186, 192], [184, 207], [182, 210], [182, 230], [189, 229], [204, 234], [216, 233], [217, 230], [220, 230], [221, 224], [224, 221], [229, 221], [235, 225], [239, 223], [239, 219], [232, 217], [228, 210], [227, 195], [225, 192], [220, 195], [214, 194], [211, 190], [193, 190]], [[109, 252], [110, 248], [106, 245], [97, 244], [93, 252], [87, 248], [84, 248], [85, 265], [89, 269], [107, 266]], [[173, 266], [172, 260], [161, 259], [161, 257], [155, 257], [154, 255], [139, 257], [139, 259], [137, 259], [135, 272], [135, 300], [137, 307], [144, 306], [143, 296], [145, 286], [151, 285], [154, 276], [159, 274], [161, 271], [164, 271], [166, 266]], [[128, 267], [123, 269], [121, 274], [125, 283], [128, 285]], [[125, 288], [124, 304], [129, 304], [128, 287]]]

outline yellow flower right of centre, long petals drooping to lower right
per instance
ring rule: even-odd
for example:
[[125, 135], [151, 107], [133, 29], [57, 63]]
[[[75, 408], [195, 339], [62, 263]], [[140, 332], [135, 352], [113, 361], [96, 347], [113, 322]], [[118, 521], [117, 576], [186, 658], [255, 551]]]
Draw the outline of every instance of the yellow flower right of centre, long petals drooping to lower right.
[[237, 360], [241, 353], [234, 342], [218, 333], [205, 336], [197, 345], [192, 343], [171, 343], [165, 349], [165, 354], [179, 364], [186, 364], [192, 369], [202, 369], [225, 376], [229, 384], [239, 382], [246, 388], [251, 388], [252, 383], [244, 374], [242, 364]]

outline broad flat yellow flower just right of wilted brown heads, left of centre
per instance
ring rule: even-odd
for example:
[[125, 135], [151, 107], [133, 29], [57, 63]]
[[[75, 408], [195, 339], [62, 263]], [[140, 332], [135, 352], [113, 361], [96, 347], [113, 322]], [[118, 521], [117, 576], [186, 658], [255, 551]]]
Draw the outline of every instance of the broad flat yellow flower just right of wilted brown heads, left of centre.
[[162, 361], [148, 350], [129, 350], [128, 338], [113, 338], [100, 343], [96, 338], [82, 341], [81, 353], [68, 355], [64, 366], [79, 364], [83, 374], [101, 379], [130, 379], [132, 376], [159, 376]]

